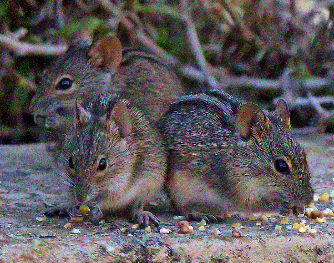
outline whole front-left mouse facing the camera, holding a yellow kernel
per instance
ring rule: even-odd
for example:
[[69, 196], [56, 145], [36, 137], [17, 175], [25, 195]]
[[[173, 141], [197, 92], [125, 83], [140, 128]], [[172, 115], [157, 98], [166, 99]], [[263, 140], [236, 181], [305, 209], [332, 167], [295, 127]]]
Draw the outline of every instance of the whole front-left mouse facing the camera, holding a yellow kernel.
[[[166, 152], [144, 114], [123, 97], [104, 94], [74, 106], [73, 118], [58, 158], [72, 204], [91, 204], [103, 213], [130, 206], [138, 220], [140, 214], [154, 220], [143, 208], [165, 181]], [[129, 132], [122, 133], [122, 127]], [[101, 158], [107, 162], [103, 171]]]

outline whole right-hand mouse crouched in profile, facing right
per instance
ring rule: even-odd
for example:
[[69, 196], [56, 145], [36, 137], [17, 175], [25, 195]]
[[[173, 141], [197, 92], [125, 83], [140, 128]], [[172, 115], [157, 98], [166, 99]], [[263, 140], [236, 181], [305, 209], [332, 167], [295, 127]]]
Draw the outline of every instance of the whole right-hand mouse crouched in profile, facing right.
[[[308, 205], [313, 190], [306, 155], [289, 124], [284, 101], [268, 112], [220, 89], [173, 103], [158, 127], [176, 209], [188, 219], [215, 221], [220, 218], [211, 214], [230, 209], [287, 214]], [[278, 170], [277, 162], [288, 169]]]

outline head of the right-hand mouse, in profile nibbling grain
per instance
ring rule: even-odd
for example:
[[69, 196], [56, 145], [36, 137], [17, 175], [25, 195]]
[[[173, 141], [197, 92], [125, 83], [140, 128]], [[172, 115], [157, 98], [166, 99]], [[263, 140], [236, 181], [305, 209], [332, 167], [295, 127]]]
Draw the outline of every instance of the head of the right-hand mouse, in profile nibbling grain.
[[238, 135], [233, 170], [246, 210], [277, 209], [309, 205], [313, 200], [306, 155], [290, 131], [285, 101], [276, 110], [264, 112], [246, 103], [235, 117]]

